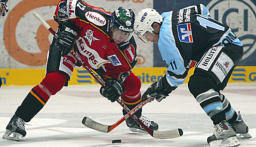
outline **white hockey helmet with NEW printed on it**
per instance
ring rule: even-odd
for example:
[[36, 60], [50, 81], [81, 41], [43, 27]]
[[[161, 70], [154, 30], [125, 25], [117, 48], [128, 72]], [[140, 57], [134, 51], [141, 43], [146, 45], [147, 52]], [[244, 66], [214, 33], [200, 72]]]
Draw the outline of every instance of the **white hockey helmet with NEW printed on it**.
[[152, 24], [157, 22], [162, 24], [163, 17], [153, 8], [145, 8], [138, 12], [134, 21], [134, 33], [137, 37], [142, 40], [144, 43], [148, 43], [149, 40], [143, 35], [148, 31], [154, 33]]

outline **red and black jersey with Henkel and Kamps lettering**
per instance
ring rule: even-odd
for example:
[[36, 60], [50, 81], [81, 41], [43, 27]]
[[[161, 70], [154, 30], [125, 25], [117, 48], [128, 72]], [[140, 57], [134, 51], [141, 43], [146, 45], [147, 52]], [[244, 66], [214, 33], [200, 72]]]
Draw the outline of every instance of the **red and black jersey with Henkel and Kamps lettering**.
[[75, 49], [90, 68], [105, 69], [104, 76], [118, 78], [120, 73], [131, 71], [137, 62], [133, 37], [121, 44], [111, 39], [110, 11], [88, 5], [83, 0], [60, 0], [54, 19], [58, 23], [71, 21], [76, 24], [79, 32]]

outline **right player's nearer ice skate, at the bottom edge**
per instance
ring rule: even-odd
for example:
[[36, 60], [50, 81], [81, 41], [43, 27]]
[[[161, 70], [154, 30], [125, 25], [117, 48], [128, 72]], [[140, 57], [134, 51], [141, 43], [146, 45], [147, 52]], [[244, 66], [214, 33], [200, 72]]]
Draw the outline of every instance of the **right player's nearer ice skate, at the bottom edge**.
[[238, 147], [236, 133], [227, 121], [221, 121], [214, 126], [214, 134], [207, 139], [210, 147]]

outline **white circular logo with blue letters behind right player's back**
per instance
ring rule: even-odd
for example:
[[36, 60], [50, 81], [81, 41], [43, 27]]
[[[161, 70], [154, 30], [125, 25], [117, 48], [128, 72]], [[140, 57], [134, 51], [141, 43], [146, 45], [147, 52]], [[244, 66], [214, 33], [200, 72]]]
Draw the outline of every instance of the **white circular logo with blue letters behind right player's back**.
[[[211, 0], [206, 6], [214, 19], [227, 24], [244, 45], [244, 59], [256, 65], [256, 5], [251, 0]], [[248, 62], [248, 61], [247, 61]], [[247, 64], [248, 63], [244, 63]]]

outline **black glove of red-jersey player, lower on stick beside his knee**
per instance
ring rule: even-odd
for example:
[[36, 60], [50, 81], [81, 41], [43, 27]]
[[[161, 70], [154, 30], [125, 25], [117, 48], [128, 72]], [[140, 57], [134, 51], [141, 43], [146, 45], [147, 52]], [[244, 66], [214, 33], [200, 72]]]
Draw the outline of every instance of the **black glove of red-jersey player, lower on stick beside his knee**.
[[125, 86], [117, 79], [109, 79], [105, 84], [106, 89], [101, 87], [100, 93], [111, 102], [116, 101], [126, 91]]

